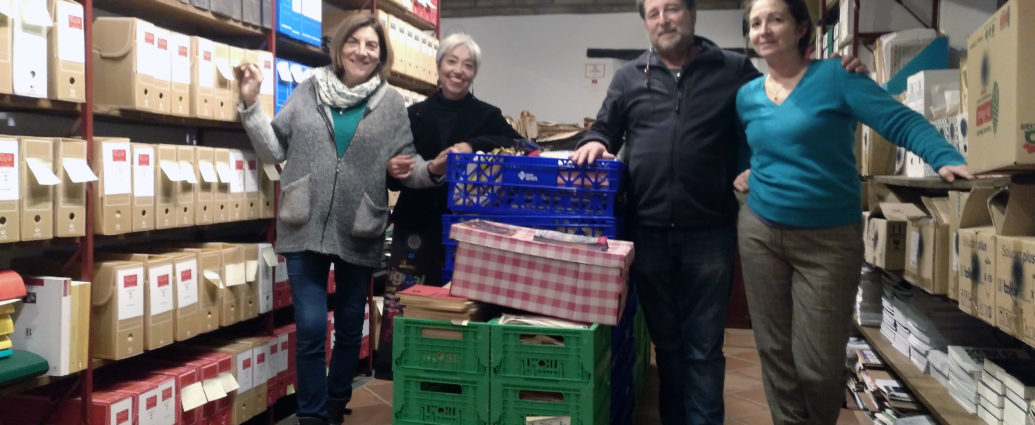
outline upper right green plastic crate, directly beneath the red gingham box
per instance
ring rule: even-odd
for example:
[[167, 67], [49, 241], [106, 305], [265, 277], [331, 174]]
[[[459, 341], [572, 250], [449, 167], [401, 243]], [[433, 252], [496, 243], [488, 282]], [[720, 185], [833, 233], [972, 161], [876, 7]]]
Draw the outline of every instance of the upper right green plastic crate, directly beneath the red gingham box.
[[[493, 378], [531, 377], [578, 383], [611, 374], [611, 327], [549, 328], [490, 323], [493, 344]], [[530, 343], [536, 337], [563, 341], [563, 345]], [[601, 366], [601, 363], [604, 365]]]

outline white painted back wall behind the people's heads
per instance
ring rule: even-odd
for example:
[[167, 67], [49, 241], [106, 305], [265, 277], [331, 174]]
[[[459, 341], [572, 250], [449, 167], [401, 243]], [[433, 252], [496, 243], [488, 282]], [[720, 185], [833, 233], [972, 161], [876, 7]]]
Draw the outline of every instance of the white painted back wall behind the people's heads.
[[[701, 10], [697, 32], [723, 48], [742, 48], [740, 10]], [[582, 123], [596, 117], [615, 67], [612, 59], [587, 59], [586, 49], [649, 45], [640, 14], [545, 14], [442, 20], [442, 36], [466, 32], [482, 51], [474, 83], [478, 98], [518, 117]], [[587, 79], [586, 65], [603, 65], [603, 78]]]

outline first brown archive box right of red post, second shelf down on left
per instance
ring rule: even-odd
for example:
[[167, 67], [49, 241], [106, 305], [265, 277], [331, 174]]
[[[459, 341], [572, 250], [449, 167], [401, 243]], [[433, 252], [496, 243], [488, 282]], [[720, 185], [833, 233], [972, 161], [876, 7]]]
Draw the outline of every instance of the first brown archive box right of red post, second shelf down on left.
[[93, 140], [93, 169], [97, 187], [93, 190], [94, 233], [129, 233], [132, 224], [132, 146], [128, 139]]

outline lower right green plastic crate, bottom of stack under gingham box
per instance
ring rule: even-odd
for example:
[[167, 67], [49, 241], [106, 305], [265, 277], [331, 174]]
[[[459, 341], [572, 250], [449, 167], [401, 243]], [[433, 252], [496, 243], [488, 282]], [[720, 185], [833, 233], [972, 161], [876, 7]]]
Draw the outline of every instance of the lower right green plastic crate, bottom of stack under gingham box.
[[[494, 376], [489, 412], [493, 425], [525, 425], [530, 416], [567, 416], [571, 425], [611, 423], [611, 388], [607, 380], [589, 383]], [[536, 400], [533, 398], [552, 398]]]

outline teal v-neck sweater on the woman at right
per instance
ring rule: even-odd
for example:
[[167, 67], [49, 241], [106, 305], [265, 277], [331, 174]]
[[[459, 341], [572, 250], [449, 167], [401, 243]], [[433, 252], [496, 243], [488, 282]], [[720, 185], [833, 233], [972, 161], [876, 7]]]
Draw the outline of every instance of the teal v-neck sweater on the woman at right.
[[737, 92], [737, 113], [750, 147], [747, 206], [767, 220], [832, 227], [861, 219], [855, 166], [857, 122], [916, 152], [935, 170], [965, 163], [923, 116], [838, 59], [812, 61], [780, 104], [766, 96], [765, 77]]

